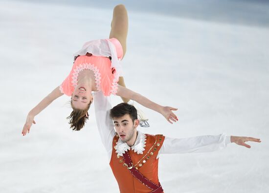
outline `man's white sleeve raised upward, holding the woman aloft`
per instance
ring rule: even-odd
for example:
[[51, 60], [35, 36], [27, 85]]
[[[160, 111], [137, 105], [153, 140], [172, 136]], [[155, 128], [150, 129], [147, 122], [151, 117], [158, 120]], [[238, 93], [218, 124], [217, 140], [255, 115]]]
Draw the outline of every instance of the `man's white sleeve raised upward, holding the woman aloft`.
[[109, 116], [111, 109], [109, 96], [104, 96], [102, 91], [94, 93], [94, 109], [98, 131], [105, 146], [109, 160], [112, 155], [112, 140], [115, 135], [114, 125]]

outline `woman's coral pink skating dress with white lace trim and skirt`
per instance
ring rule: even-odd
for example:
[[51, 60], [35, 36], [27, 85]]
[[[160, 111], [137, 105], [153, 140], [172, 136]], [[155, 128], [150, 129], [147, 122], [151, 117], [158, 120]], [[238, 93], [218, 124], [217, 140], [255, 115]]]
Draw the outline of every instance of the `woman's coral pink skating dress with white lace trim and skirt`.
[[[92, 54], [86, 56], [87, 53]], [[111, 57], [111, 60], [108, 58]], [[105, 96], [115, 95], [117, 92], [117, 82], [123, 75], [121, 59], [123, 49], [120, 42], [115, 39], [101, 39], [87, 42], [82, 49], [74, 54], [73, 67], [60, 85], [60, 90], [67, 96], [71, 96], [79, 73], [84, 69], [94, 72], [95, 84], [98, 91], [103, 91]]]

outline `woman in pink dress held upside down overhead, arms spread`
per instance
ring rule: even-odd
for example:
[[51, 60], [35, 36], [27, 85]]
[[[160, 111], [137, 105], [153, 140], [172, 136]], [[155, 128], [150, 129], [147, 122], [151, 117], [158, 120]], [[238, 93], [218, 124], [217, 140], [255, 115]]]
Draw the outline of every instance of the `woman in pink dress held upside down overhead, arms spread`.
[[70, 128], [80, 130], [88, 119], [88, 110], [93, 101], [92, 91], [102, 91], [105, 96], [116, 94], [124, 102], [130, 99], [144, 107], [161, 113], [168, 122], [176, 122], [173, 107], [160, 106], [142, 95], [126, 88], [122, 77], [120, 61], [126, 53], [128, 15], [124, 5], [117, 5], [113, 10], [109, 39], [94, 40], [83, 45], [74, 54], [73, 67], [64, 82], [49, 93], [36, 107], [29, 111], [22, 129], [22, 135], [29, 133], [34, 117], [55, 99], [66, 94], [71, 96]]

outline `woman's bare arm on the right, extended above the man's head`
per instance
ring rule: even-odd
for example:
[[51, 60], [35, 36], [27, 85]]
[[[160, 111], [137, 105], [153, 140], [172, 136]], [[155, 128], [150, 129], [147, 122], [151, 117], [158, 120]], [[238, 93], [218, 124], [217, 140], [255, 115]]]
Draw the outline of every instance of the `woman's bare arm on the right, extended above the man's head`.
[[144, 107], [159, 112], [171, 124], [179, 120], [178, 117], [172, 112], [172, 110], [177, 110], [177, 108], [160, 106], [157, 103], [154, 103], [151, 100], [147, 99], [146, 97], [142, 96], [141, 94], [138, 94], [126, 87], [118, 85], [116, 95], [127, 99], [132, 99], [137, 103], [139, 103], [140, 105], [143, 105]]

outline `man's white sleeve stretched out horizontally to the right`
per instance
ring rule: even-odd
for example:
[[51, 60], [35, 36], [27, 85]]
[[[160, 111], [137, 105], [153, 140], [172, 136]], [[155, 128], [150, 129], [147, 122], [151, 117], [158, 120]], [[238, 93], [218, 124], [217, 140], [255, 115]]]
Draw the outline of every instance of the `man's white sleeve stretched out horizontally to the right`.
[[165, 137], [158, 156], [160, 153], [191, 153], [221, 150], [226, 148], [227, 144], [231, 143], [230, 138], [225, 133], [182, 139]]

